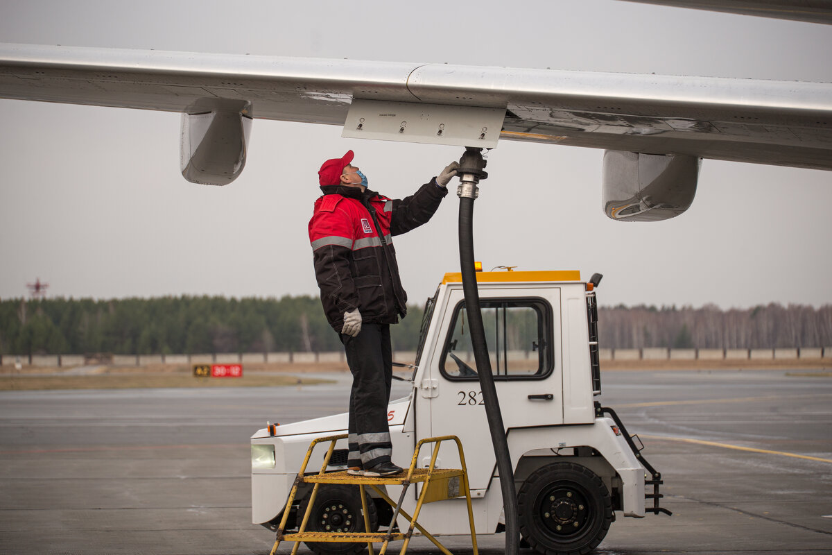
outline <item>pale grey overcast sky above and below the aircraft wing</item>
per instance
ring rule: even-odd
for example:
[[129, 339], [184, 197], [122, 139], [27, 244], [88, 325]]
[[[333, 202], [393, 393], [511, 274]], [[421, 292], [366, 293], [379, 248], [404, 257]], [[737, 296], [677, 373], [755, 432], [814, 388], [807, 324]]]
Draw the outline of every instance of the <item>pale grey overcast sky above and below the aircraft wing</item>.
[[[615, 0], [9, 2], [0, 42], [832, 81], [832, 27]], [[0, 101], [0, 298], [317, 294], [317, 170], [353, 149], [370, 188], [407, 196], [462, 149], [255, 120], [242, 176], [179, 172], [180, 116]], [[602, 213], [602, 151], [502, 141], [475, 206], [486, 270], [605, 275], [602, 305], [832, 302], [832, 172], [704, 161], [686, 214]], [[453, 187], [455, 190], [455, 187]], [[396, 238], [410, 300], [458, 271], [458, 199]]]

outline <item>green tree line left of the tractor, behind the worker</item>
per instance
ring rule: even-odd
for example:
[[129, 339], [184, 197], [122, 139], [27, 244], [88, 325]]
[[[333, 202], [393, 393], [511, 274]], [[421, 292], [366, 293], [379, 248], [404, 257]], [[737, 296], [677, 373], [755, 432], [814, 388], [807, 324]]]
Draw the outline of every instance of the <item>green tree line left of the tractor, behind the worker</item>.
[[[415, 349], [418, 312], [395, 326]], [[409, 339], [415, 334], [417, 339]], [[0, 354], [196, 354], [341, 349], [318, 297], [0, 301]]]

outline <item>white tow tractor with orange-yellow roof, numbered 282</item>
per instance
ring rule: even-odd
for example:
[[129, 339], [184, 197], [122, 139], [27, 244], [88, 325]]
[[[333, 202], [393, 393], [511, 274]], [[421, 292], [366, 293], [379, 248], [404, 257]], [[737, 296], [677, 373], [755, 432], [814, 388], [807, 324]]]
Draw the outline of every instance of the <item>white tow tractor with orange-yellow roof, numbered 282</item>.
[[[627, 433], [613, 409], [596, 400], [602, 391], [595, 291], [601, 275], [587, 282], [577, 271], [509, 270], [476, 276], [493, 379], [504, 411], [522, 543], [539, 553], [589, 553], [617, 513], [635, 518], [670, 514], [660, 506], [661, 473], [642, 455], [643, 445], [636, 444], [637, 437]], [[460, 274], [444, 275], [428, 299], [415, 364], [396, 365], [412, 369], [413, 387], [406, 398], [389, 404], [394, 457], [409, 457], [419, 439], [457, 436], [468, 461], [476, 531], [503, 532], [501, 477], [488, 436]], [[346, 434], [347, 418], [336, 414], [270, 424], [251, 437], [252, 522], [276, 530], [310, 442]], [[313, 457], [322, 459], [324, 452], [322, 448]], [[344, 470], [346, 462], [342, 440], [328, 469]], [[428, 466], [428, 457], [420, 463]], [[458, 468], [458, 453], [443, 448], [436, 465]], [[387, 486], [389, 497], [398, 498], [399, 492], [399, 486]], [[295, 516], [306, 513], [309, 493], [298, 492], [287, 530], [300, 524]], [[406, 528], [406, 522], [391, 523], [388, 503], [370, 501], [370, 528]], [[405, 496], [402, 508], [410, 512], [415, 503], [414, 491]], [[337, 513], [330, 510], [333, 505]], [[359, 532], [364, 529], [360, 513], [358, 488], [322, 486], [310, 527]], [[419, 523], [434, 536], [467, 534], [465, 499], [426, 504]], [[320, 555], [364, 549], [356, 543], [308, 546]]]

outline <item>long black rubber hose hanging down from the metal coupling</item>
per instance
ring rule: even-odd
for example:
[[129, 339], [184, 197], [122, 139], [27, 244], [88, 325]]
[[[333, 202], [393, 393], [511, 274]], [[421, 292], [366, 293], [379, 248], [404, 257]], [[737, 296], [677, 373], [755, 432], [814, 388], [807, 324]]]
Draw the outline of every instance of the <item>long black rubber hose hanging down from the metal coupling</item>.
[[494, 456], [497, 458], [500, 488], [503, 491], [506, 553], [517, 555], [520, 548], [518, 495], [517, 489], [514, 488], [514, 469], [508, 453], [503, 414], [500, 412], [497, 388], [494, 387], [494, 376], [491, 373], [491, 360], [488, 358], [488, 346], [485, 343], [483, 313], [480, 310], [477, 290], [477, 273], [473, 267], [473, 199], [465, 196], [459, 199], [459, 265], [463, 275], [463, 293], [465, 309], [468, 313], [468, 326], [471, 330], [473, 357], [477, 364], [479, 384], [483, 389], [485, 415], [488, 419], [488, 429], [491, 431]]

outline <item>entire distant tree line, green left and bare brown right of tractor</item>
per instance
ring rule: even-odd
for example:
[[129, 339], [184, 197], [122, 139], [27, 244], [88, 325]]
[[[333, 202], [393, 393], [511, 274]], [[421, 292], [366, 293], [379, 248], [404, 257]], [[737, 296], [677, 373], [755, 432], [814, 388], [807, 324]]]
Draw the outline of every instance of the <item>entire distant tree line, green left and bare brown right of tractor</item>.
[[[391, 327], [415, 350], [423, 309]], [[832, 345], [832, 305], [721, 310], [601, 307], [602, 347], [764, 349]], [[0, 300], [0, 354], [197, 354], [341, 349], [318, 297]]]

